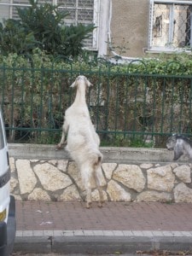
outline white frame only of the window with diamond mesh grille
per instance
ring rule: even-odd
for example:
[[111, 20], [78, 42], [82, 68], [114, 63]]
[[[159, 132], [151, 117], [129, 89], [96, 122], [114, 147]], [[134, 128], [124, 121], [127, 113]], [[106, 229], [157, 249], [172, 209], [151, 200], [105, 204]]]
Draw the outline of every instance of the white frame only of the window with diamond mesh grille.
[[[155, 52], [174, 52], [174, 51], [188, 51], [184, 47], [176, 47], [176, 48], [169, 48], [166, 46], [153, 46], [153, 22], [154, 22], [154, 4], [155, 3], [161, 3], [161, 4], [172, 4], [172, 12], [173, 13], [173, 4], [187, 4], [191, 5], [192, 7], [192, 1], [186, 1], [186, 0], [150, 0], [149, 3], [149, 26], [148, 26], [148, 51], [155, 51]], [[172, 17], [170, 18], [170, 20]], [[192, 21], [192, 20], [191, 20]], [[171, 22], [172, 24], [172, 22]], [[172, 35], [173, 35], [173, 27], [170, 25], [169, 27], [169, 42], [172, 42]], [[192, 23], [191, 23], [191, 38], [190, 38], [190, 47], [192, 48]]]

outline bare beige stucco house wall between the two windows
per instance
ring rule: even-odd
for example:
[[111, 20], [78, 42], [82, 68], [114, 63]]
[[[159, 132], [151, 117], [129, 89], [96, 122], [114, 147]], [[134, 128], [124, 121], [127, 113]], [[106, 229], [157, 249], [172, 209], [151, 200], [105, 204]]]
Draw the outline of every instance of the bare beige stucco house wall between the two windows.
[[[148, 47], [148, 13], [149, 0], [112, 0], [110, 31], [117, 54], [127, 57], [145, 55], [144, 49]], [[120, 53], [122, 50], [123, 53]]]

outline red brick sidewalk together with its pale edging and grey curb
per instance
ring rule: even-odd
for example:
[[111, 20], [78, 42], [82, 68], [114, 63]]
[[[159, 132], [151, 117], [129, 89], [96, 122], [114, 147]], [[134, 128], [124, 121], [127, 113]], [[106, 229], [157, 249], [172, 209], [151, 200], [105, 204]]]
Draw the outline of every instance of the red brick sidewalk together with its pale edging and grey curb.
[[191, 203], [16, 201], [15, 252], [192, 252]]

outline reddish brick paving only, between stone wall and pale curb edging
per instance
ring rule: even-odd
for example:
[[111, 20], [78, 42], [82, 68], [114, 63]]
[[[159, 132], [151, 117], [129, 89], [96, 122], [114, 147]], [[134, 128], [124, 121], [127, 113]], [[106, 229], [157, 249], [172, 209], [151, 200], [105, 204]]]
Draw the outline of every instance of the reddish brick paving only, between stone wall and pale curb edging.
[[17, 230], [191, 231], [192, 204], [16, 201]]

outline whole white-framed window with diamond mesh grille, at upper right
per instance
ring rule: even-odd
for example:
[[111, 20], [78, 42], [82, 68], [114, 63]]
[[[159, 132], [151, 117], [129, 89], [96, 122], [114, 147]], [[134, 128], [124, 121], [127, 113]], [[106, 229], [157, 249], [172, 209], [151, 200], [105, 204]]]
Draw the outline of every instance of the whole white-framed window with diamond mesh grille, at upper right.
[[191, 49], [192, 1], [151, 0], [149, 27], [149, 49]]

